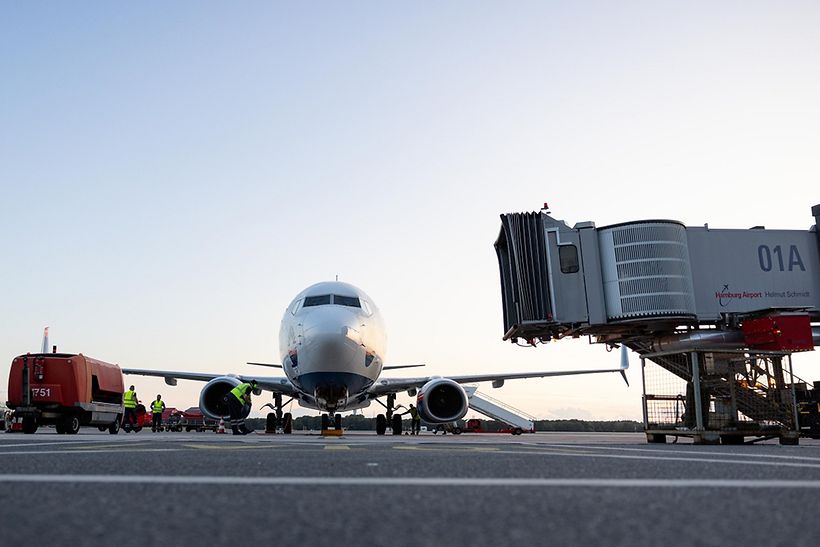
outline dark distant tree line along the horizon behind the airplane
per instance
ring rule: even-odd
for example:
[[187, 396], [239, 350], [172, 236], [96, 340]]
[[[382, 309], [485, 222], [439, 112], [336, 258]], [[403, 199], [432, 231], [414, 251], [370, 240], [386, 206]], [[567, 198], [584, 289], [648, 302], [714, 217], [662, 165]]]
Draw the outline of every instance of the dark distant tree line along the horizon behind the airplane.
[[[265, 429], [264, 418], [251, 418], [247, 420], [251, 427], [257, 430]], [[495, 420], [479, 420], [481, 422], [481, 429], [484, 431], [500, 431], [502, 429], [509, 429], [509, 425]], [[459, 427], [464, 428], [464, 420], [459, 420]], [[403, 427], [410, 429], [410, 420], [402, 421]], [[433, 425], [425, 424], [429, 429], [433, 429]], [[345, 429], [351, 431], [375, 431], [376, 419], [366, 418], [360, 414], [347, 415], [344, 417]], [[296, 431], [314, 430], [318, 431], [322, 428], [322, 418], [320, 416], [300, 416], [293, 420], [293, 429]], [[643, 431], [643, 423], [634, 420], [537, 420], [535, 422], [536, 431], [589, 431], [589, 432], [606, 432], [606, 433], [633, 433]]]

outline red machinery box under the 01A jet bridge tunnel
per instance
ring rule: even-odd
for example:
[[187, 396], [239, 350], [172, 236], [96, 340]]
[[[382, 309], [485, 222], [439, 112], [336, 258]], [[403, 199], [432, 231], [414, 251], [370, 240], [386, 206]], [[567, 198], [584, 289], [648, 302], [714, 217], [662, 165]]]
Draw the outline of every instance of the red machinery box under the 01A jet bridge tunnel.
[[772, 351], [814, 349], [808, 315], [772, 315], [743, 322], [743, 337], [750, 348]]

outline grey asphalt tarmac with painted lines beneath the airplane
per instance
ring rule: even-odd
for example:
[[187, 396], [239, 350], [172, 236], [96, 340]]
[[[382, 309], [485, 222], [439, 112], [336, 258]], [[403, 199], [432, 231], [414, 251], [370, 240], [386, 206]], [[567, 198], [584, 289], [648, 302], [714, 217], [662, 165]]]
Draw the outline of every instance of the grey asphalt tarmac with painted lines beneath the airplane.
[[0, 546], [818, 545], [820, 442], [0, 433]]

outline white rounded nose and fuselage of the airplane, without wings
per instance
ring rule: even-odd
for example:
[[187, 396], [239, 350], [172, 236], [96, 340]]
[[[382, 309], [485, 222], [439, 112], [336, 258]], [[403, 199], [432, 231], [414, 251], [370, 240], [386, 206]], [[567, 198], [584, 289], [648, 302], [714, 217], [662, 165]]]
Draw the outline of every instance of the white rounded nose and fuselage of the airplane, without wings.
[[339, 281], [317, 283], [285, 310], [280, 362], [302, 406], [352, 410], [369, 405], [366, 392], [381, 374], [386, 342], [381, 314], [364, 291]]

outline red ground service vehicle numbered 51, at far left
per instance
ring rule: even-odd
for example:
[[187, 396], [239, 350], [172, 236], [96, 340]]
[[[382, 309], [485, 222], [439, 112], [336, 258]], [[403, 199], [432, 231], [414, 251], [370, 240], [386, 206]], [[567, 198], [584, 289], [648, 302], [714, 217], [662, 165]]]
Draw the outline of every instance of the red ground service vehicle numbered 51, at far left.
[[119, 432], [123, 415], [122, 371], [83, 354], [27, 353], [14, 358], [7, 403], [21, 418], [24, 433], [53, 424], [57, 433], [81, 426]]

